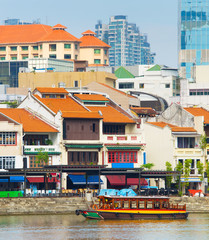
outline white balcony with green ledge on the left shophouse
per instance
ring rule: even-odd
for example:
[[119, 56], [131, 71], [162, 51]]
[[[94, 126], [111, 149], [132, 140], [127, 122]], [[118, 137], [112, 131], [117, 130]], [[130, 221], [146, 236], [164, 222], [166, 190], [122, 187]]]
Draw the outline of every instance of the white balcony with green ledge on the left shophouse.
[[24, 146], [24, 155], [36, 155], [40, 151], [47, 152], [50, 155], [61, 154], [60, 149], [54, 145], [27, 145], [27, 146]]

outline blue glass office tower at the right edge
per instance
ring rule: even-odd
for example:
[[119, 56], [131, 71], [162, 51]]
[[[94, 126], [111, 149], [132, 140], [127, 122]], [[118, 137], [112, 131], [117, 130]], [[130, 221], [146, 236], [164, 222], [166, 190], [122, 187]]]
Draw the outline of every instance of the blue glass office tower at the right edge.
[[195, 68], [209, 65], [209, 0], [179, 0], [179, 75], [195, 82]]

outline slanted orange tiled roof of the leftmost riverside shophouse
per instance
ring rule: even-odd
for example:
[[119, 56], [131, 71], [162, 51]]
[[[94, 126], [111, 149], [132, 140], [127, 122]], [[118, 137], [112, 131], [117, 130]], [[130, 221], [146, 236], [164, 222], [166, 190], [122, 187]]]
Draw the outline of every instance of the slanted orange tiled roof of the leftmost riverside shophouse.
[[0, 113], [23, 125], [24, 132], [58, 132], [38, 117], [21, 108], [1, 108]]

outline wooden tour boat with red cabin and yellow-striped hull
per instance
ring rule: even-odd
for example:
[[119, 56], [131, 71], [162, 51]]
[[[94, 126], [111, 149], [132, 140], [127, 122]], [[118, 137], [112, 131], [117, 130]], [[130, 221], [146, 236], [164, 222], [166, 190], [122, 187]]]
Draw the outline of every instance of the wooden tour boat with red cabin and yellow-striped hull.
[[76, 210], [89, 219], [186, 219], [186, 204], [170, 204], [168, 197], [99, 196], [91, 209]]

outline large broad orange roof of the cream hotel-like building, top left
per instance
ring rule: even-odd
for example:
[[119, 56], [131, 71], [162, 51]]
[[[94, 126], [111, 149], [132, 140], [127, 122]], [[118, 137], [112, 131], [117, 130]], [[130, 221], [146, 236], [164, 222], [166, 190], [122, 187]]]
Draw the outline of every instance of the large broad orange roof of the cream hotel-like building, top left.
[[44, 41], [73, 41], [79, 39], [66, 32], [65, 27], [44, 24], [2, 25], [0, 26], [0, 44], [24, 44]]

